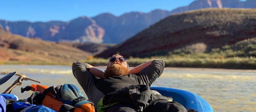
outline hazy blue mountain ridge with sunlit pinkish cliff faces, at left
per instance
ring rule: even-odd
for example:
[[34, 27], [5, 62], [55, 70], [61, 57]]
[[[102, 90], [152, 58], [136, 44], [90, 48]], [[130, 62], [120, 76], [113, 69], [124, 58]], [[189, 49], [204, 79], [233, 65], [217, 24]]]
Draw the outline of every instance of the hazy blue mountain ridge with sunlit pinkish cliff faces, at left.
[[5, 30], [26, 37], [39, 37], [48, 41], [72, 41], [101, 43], [104, 29], [88, 17], [80, 17], [68, 22], [9, 22], [0, 20]]

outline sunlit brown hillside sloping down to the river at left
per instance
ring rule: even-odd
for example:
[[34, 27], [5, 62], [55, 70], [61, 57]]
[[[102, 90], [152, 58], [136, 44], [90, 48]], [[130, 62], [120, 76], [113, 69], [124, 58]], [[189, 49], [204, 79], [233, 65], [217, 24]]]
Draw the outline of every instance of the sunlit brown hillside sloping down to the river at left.
[[0, 28], [0, 61], [72, 63], [90, 55], [74, 47], [13, 35]]

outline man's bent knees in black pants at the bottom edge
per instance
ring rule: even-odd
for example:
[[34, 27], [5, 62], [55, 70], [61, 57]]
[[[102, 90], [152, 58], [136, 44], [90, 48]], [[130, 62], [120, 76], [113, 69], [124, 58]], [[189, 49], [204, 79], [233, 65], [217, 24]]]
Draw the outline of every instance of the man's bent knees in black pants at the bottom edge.
[[[137, 112], [138, 110], [130, 104], [116, 104], [108, 109], [107, 112]], [[158, 100], [147, 106], [143, 112], [187, 112], [178, 102]]]

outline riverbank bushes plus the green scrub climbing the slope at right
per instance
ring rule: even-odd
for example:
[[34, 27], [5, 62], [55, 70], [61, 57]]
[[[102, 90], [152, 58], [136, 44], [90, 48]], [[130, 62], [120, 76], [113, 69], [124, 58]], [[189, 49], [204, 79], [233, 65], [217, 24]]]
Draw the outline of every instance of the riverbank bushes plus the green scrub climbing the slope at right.
[[[182, 48], [169, 52], [165, 56], [129, 57], [127, 62], [130, 67], [136, 67], [144, 62], [155, 59], [164, 60], [165, 67], [256, 69], [256, 38], [246, 39], [233, 45], [225, 45], [222, 48], [215, 48], [209, 53], [199, 53], [195, 50]], [[86, 62], [93, 66], [106, 66], [109, 58], [88, 56], [77, 61]], [[0, 61], [0, 64], [72, 65], [72, 62], [67, 60], [63, 62], [14, 60]]]

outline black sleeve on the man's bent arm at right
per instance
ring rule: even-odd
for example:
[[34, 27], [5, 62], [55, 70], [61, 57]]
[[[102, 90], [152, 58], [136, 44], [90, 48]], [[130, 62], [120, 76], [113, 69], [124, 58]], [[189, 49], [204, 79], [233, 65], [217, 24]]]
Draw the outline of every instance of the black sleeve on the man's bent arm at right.
[[142, 84], [148, 87], [163, 73], [165, 67], [165, 61], [154, 60], [149, 66], [142, 69], [138, 77]]

